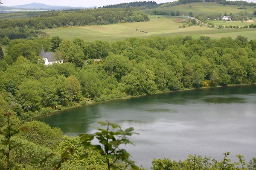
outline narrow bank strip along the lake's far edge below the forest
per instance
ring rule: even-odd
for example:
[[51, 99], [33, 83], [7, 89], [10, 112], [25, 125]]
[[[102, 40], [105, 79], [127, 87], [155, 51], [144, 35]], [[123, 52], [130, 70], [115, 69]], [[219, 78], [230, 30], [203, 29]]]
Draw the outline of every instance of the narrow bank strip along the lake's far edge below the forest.
[[[202, 88], [182, 89], [182, 90], [177, 90], [177, 91], [157, 91], [157, 93], [155, 95], [166, 94], [166, 93], [175, 93], [175, 92], [180, 92], [180, 91], [194, 91], [194, 90], [200, 90], [200, 89], [206, 89], [206, 88], [225, 88], [225, 87], [244, 86], [244, 85], [256, 85], [256, 83], [239, 84], [239, 85], [230, 84], [230, 85], [222, 85], [222, 86], [218, 85], [218, 86], [209, 86], [209, 87], [202, 87]], [[136, 97], [142, 97], [142, 96], [146, 96], [146, 95], [148, 95], [148, 94], [141, 94], [141, 95], [137, 95], [137, 96], [125, 96], [125, 97], [121, 97], [121, 98], [106, 100], [106, 101], [103, 101], [103, 102], [110, 102], [110, 101], [124, 100], [124, 99], [126, 100], [126, 99], [131, 99], [131, 98], [136, 98]], [[154, 95], [151, 95], [151, 96], [154, 96]], [[54, 114], [59, 114], [62, 111], [67, 111], [67, 110], [74, 109], [74, 108], [89, 107], [91, 105], [97, 105], [97, 104], [100, 104], [100, 103], [103, 103], [103, 102], [91, 102], [91, 103], [88, 103], [86, 105], [78, 105], [78, 106], [73, 106], [73, 107], [69, 107], [69, 108], [64, 108], [64, 109], [61, 109], [61, 110], [52, 111], [52, 112], [47, 113], [47, 114], [30, 117], [30, 118], [24, 120], [24, 122], [32, 121], [32, 120], [34, 120], [35, 118], [38, 118], [38, 117], [51, 116], [51, 115], [54, 115]]]

